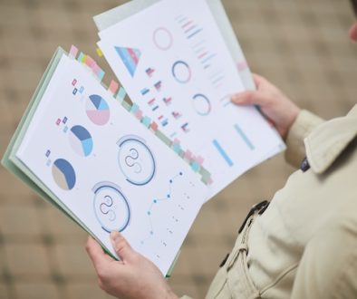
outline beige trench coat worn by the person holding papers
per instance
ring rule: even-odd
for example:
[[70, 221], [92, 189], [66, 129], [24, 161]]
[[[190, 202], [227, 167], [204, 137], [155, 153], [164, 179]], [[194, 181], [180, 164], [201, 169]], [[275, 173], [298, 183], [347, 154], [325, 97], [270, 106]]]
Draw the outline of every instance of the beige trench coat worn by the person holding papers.
[[311, 168], [249, 219], [207, 298], [357, 298], [357, 105], [326, 122], [302, 111], [286, 141]]

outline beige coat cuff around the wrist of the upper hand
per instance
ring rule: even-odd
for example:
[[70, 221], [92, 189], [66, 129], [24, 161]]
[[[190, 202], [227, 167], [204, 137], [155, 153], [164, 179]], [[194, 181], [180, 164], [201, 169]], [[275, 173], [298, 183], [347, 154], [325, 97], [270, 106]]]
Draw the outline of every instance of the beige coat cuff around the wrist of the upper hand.
[[317, 127], [323, 119], [309, 111], [300, 111], [287, 138], [285, 151], [285, 160], [294, 167], [299, 167], [305, 158], [304, 138]]

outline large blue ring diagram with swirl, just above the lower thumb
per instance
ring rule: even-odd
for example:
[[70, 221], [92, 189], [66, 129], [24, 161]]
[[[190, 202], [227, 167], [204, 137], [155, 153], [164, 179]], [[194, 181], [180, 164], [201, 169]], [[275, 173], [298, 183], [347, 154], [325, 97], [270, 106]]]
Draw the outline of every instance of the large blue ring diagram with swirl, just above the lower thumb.
[[95, 217], [106, 232], [123, 231], [129, 225], [130, 207], [118, 186], [101, 182], [94, 186]]

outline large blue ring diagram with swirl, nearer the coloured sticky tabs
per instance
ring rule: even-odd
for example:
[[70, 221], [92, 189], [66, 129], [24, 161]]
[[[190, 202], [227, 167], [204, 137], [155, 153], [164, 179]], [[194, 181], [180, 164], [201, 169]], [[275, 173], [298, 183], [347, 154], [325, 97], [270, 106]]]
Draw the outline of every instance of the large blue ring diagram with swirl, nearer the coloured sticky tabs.
[[145, 185], [155, 174], [155, 159], [144, 140], [128, 135], [117, 142], [118, 160], [122, 174], [133, 185]]

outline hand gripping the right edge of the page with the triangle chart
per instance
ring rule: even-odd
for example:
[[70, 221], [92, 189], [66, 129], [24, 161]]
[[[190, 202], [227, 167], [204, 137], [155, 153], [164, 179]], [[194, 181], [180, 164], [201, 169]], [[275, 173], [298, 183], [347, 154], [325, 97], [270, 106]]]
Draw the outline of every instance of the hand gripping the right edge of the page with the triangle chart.
[[256, 82], [256, 91], [236, 93], [232, 96], [231, 101], [237, 105], [258, 105], [285, 139], [300, 108], [262, 76], [253, 74], [253, 78]]

